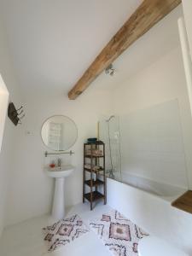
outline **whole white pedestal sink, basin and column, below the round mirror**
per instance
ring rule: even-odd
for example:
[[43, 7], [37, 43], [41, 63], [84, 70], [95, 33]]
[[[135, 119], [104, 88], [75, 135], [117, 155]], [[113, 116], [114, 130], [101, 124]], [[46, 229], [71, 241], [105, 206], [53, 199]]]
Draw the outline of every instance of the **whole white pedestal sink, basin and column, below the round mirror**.
[[52, 207], [52, 218], [57, 221], [65, 217], [65, 178], [72, 174], [73, 166], [46, 168], [49, 177], [55, 177], [55, 193]]

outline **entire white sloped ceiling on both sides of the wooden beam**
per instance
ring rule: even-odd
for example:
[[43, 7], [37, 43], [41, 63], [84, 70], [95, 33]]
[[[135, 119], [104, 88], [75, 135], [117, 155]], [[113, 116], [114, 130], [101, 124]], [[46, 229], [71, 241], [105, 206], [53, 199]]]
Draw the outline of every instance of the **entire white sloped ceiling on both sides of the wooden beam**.
[[[66, 94], [141, 0], [0, 0], [0, 15], [26, 96]], [[112, 90], [177, 47], [179, 6], [114, 62], [89, 90]], [[87, 93], [87, 92], [86, 92]]]

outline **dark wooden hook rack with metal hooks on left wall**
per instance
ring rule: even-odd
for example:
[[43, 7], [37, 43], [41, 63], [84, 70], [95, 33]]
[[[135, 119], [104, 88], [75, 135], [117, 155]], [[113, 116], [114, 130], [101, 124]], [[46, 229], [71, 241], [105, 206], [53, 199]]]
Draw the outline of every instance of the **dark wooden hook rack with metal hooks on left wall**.
[[[20, 116], [20, 114], [22, 114], [22, 116]], [[14, 103], [10, 102], [9, 108], [8, 108], [8, 116], [9, 116], [9, 119], [11, 119], [11, 121], [16, 126], [18, 124], [19, 125], [22, 124], [20, 119], [23, 119], [26, 116], [26, 114], [24, 113], [23, 106], [16, 109]]]

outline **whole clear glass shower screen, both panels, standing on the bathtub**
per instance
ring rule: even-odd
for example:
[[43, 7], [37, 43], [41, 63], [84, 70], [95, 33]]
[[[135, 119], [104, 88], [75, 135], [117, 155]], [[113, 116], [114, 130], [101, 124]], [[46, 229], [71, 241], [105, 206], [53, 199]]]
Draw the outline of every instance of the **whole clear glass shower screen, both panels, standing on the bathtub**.
[[99, 137], [108, 177], [170, 198], [189, 188], [177, 99], [103, 118]]

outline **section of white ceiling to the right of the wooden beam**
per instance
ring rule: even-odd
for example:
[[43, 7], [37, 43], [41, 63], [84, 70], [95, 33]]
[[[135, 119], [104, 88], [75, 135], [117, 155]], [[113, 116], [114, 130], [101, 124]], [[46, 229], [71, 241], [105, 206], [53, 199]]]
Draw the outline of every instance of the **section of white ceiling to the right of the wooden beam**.
[[[113, 90], [115, 86], [119, 86], [126, 79], [153, 64], [154, 61], [158, 61], [172, 49], [180, 48], [177, 19], [182, 15], [183, 9], [180, 5], [113, 62], [113, 67], [116, 69], [113, 77], [103, 72], [91, 84], [88, 91]], [[170, 67], [170, 72], [174, 72], [172, 67]]]

